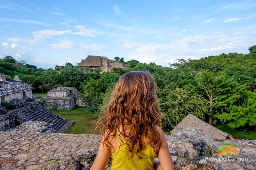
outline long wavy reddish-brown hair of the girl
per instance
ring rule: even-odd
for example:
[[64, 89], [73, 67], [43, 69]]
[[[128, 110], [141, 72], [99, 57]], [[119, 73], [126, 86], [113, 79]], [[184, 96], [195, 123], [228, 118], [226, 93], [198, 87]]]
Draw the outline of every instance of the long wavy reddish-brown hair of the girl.
[[160, 138], [156, 126], [161, 127], [163, 118], [158, 108], [152, 75], [145, 71], [131, 71], [124, 74], [116, 83], [106, 106], [96, 126], [96, 129], [102, 133], [102, 137], [105, 135], [104, 147], [112, 148], [109, 141], [116, 136], [116, 129], [118, 129], [120, 132], [118, 138], [121, 134], [126, 137], [126, 149], [131, 153], [128, 159], [134, 155], [132, 149], [135, 144], [139, 146], [136, 152], [137, 157], [143, 159], [139, 155], [143, 148], [141, 136], [146, 138], [147, 144], [155, 148], [154, 144]]

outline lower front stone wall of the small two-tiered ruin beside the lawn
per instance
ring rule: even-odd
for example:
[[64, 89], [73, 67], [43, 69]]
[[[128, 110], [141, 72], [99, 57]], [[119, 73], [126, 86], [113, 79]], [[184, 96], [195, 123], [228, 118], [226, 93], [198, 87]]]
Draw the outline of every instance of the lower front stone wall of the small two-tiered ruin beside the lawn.
[[75, 99], [73, 96], [63, 98], [44, 97], [41, 99], [48, 109], [73, 110], [75, 108]]

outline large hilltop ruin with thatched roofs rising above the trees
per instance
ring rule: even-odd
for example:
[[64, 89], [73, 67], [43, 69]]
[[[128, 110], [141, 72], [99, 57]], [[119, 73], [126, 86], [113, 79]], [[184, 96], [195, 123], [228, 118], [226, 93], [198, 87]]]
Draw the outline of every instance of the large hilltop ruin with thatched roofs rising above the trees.
[[110, 72], [112, 68], [126, 68], [122, 63], [113, 62], [108, 57], [95, 55], [88, 55], [85, 60], [81, 61], [79, 66], [90, 67], [92, 69], [100, 68], [103, 72]]

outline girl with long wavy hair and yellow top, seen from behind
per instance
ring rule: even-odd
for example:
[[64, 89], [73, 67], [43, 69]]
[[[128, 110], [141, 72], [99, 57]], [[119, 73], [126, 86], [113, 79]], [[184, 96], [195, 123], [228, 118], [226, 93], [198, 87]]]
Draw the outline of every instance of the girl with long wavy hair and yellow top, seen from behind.
[[[117, 82], [107, 110], [97, 122], [102, 132], [99, 151], [91, 170], [174, 170], [161, 125], [154, 78], [148, 72], [132, 71]], [[157, 155], [159, 161], [154, 160]]]

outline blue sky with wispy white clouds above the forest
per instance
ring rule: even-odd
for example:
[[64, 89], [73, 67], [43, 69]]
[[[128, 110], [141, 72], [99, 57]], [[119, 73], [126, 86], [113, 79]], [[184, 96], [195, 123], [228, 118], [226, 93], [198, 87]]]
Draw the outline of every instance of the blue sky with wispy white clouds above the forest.
[[256, 1], [0, 1], [0, 57], [44, 69], [87, 55], [168, 66], [248, 53]]

